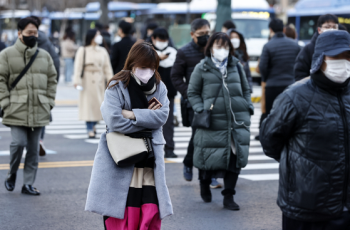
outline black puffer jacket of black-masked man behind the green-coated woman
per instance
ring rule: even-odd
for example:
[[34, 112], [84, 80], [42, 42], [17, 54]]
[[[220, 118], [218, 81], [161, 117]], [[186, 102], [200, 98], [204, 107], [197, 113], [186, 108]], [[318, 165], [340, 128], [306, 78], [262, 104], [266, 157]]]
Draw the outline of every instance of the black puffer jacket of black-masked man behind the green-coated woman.
[[[171, 80], [184, 98], [187, 98], [187, 88], [194, 67], [203, 58], [203, 50], [193, 40], [177, 51], [176, 60], [171, 70]], [[186, 82], [183, 80], [184, 77]]]

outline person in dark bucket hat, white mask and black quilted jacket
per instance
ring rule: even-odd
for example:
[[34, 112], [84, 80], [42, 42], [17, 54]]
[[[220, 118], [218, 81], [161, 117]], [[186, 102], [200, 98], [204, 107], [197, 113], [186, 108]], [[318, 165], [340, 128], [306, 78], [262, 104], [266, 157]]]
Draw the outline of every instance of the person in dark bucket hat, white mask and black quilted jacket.
[[260, 129], [280, 163], [277, 204], [283, 229], [350, 229], [350, 35], [318, 36], [311, 79], [290, 86]]

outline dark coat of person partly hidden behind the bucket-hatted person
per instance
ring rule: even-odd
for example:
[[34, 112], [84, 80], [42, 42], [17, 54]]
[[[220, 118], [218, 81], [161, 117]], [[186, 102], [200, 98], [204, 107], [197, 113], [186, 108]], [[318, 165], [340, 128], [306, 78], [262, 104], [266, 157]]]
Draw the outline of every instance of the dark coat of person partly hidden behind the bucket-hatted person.
[[309, 44], [307, 44], [299, 53], [294, 65], [295, 80], [299, 81], [310, 76], [312, 55], [314, 54], [318, 32], [314, 34]]

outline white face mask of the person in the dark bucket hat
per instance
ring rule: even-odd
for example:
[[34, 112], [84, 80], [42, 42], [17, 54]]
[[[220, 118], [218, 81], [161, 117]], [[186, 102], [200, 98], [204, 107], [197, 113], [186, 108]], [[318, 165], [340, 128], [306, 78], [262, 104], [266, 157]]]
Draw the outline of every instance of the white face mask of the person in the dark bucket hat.
[[322, 71], [326, 77], [335, 83], [344, 83], [350, 77], [350, 61], [346, 59], [326, 60], [327, 67]]

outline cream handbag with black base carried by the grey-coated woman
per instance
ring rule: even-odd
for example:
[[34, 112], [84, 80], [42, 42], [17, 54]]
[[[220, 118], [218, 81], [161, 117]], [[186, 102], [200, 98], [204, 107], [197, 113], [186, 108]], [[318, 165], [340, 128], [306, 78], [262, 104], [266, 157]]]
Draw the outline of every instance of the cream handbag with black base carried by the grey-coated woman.
[[106, 135], [107, 146], [115, 163], [127, 167], [148, 155], [149, 143], [146, 138], [132, 138], [117, 132]]

